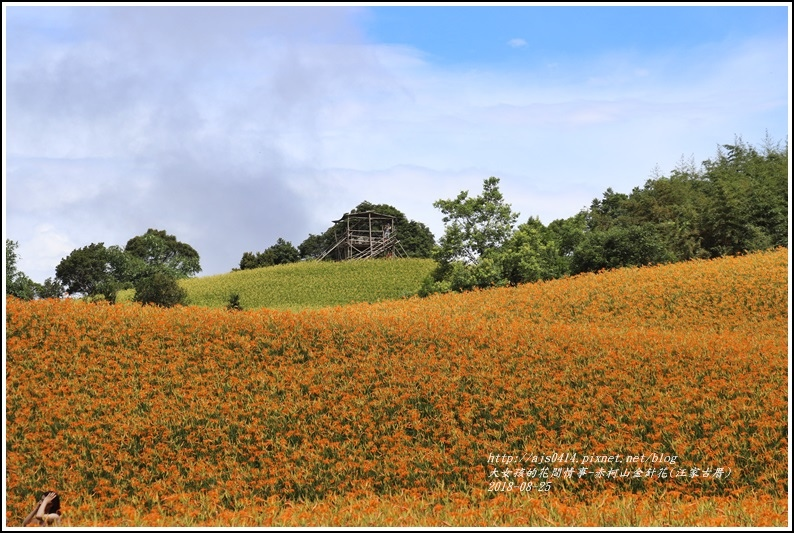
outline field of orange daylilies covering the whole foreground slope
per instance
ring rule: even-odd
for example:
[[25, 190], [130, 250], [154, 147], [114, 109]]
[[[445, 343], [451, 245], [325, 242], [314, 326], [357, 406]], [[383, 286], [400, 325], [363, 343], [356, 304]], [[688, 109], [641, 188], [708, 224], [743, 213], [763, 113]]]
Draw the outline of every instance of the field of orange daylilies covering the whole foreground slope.
[[788, 251], [323, 309], [6, 300], [6, 520], [782, 526]]

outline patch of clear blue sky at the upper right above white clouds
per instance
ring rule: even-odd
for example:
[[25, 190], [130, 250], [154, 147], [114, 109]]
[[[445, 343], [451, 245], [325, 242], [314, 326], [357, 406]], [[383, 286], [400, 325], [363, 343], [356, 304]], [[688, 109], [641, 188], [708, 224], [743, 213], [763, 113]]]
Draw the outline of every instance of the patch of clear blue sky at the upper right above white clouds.
[[512, 62], [519, 68], [610, 51], [664, 53], [730, 38], [788, 35], [782, 6], [471, 5], [377, 7], [371, 14], [365, 31], [372, 40], [411, 43], [446, 65]]

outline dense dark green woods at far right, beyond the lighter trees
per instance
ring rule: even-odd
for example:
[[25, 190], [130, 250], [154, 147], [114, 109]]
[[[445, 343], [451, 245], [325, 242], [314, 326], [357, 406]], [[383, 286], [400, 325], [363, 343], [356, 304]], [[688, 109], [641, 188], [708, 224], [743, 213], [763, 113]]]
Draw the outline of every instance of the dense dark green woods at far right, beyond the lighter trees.
[[698, 170], [680, 164], [585, 214], [571, 272], [734, 255], [788, 245], [788, 149], [741, 139]]

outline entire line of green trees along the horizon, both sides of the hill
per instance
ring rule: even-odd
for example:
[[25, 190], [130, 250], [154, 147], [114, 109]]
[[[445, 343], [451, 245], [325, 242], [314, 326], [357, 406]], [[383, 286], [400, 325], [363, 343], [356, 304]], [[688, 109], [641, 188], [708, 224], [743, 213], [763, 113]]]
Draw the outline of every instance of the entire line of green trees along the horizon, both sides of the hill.
[[[395, 217], [406, 254], [436, 260], [423, 296], [787, 247], [788, 144], [767, 138], [756, 148], [737, 138], [700, 167], [682, 161], [629, 194], [608, 188], [589, 208], [548, 225], [529, 217], [516, 226], [520, 214], [496, 177], [484, 180], [479, 196], [462, 191], [433, 206], [444, 215], [437, 243], [425, 224], [393, 206], [365, 201], [351, 210]], [[239, 270], [317, 259], [344, 229], [337, 222], [298, 247], [279, 238], [262, 252], [245, 252]], [[18, 271], [16, 248], [6, 239], [6, 294], [24, 299], [76, 293], [113, 302], [118, 290], [134, 288], [137, 301], [174, 305], [185, 298], [176, 280], [201, 271], [198, 253], [164, 230], [149, 229], [124, 248], [98, 243], [74, 250], [43, 284]]]

